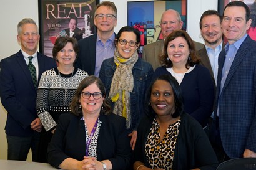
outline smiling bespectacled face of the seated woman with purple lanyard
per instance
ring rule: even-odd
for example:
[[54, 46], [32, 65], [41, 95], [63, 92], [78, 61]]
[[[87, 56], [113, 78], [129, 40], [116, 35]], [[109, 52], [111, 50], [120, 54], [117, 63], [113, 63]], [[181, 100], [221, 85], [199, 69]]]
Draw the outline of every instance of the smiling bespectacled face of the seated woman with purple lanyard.
[[[97, 87], [96, 83], [92, 83], [88, 87], [84, 88], [82, 92], [89, 92], [89, 93], [95, 93], [99, 92], [101, 93], [101, 90], [99, 87]], [[91, 95], [89, 98], [85, 99], [80, 95], [79, 102], [81, 103], [82, 107], [82, 113], [83, 114], [99, 114], [101, 111], [101, 106], [103, 103], [104, 97], [101, 97], [99, 99], [94, 99], [94, 97]]]

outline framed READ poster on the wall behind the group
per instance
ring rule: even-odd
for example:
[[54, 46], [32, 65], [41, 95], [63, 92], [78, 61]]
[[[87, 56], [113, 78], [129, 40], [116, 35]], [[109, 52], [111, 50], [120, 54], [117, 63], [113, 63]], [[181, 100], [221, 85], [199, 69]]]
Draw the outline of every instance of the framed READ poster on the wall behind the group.
[[38, 0], [39, 50], [52, 57], [59, 36], [79, 40], [94, 34], [94, 9], [99, 0]]

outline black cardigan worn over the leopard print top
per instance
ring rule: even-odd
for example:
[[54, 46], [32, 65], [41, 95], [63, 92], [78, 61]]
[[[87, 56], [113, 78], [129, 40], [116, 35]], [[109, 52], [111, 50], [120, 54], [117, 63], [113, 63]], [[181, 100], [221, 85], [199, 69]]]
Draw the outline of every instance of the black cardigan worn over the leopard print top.
[[[187, 113], [183, 113], [180, 116], [180, 120], [180, 130], [175, 146], [172, 169], [216, 169], [218, 160], [202, 126]], [[145, 156], [145, 142], [151, 127], [152, 120], [145, 116], [138, 127], [137, 143], [134, 151], [134, 161], [141, 161], [147, 167], [149, 167], [149, 163]]]

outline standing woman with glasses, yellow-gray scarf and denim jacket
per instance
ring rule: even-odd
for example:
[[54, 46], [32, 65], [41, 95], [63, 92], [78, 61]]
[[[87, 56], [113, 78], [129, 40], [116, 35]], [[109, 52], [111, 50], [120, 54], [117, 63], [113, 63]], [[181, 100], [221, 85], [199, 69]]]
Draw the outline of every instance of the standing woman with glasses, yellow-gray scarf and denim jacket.
[[126, 118], [130, 146], [135, 147], [137, 126], [144, 112], [145, 92], [153, 75], [152, 65], [138, 57], [140, 32], [134, 27], [122, 27], [117, 34], [114, 57], [101, 65], [101, 78], [107, 97], [114, 105], [113, 113]]

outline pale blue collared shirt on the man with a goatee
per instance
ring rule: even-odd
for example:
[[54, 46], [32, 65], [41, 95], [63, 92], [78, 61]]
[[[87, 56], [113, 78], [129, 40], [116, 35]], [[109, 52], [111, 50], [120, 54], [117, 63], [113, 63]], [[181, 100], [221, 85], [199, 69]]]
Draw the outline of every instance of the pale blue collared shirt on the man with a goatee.
[[212, 67], [212, 72], [214, 73], [214, 80], [215, 80], [215, 85], [217, 85], [217, 77], [218, 77], [218, 59], [219, 59], [219, 54], [222, 50], [222, 43], [215, 47], [215, 49], [212, 49], [211, 47], [205, 45], [205, 49], [207, 51], [207, 55], [210, 60], [210, 66]]

